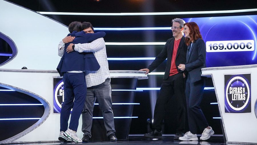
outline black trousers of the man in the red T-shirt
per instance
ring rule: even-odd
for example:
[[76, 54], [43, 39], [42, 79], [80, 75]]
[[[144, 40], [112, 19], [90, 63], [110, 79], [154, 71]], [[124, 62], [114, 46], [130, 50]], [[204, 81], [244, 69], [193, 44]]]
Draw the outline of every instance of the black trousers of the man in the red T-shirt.
[[184, 94], [184, 78], [182, 73], [169, 76], [168, 79], [162, 81], [160, 93], [156, 100], [154, 108], [154, 122], [153, 129], [161, 130], [162, 120], [164, 118], [164, 105], [169, 98], [174, 95], [177, 104], [177, 118], [178, 124], [177, 132], [184, 132], [185, 130], [185, 94]]

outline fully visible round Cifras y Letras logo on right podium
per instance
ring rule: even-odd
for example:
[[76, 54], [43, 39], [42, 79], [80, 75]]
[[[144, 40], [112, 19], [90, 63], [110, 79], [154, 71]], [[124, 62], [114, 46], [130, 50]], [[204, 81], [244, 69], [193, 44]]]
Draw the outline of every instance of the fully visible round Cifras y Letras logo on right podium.
[[250, 88], [246, 80], [240, 76], [232, 78], [226, 88], [226, 101], [236, 111], [244, 109], [250, 98]]

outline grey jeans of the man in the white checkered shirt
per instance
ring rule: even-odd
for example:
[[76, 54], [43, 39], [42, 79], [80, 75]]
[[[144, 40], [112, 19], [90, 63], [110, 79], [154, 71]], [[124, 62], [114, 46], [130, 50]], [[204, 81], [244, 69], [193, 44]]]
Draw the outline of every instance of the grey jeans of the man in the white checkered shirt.
[[107, 78], [102, 84], [87, 88], [87, 97], [82, 111], [82, 132], [84, 132], [84, 135], [88, 134], [91, 137], [93, 109], [96, 99], [103, 114], [105, 129], [107, 131], [106, 135], [109, 136], [115, 133], [110, 83], [110, 78]]

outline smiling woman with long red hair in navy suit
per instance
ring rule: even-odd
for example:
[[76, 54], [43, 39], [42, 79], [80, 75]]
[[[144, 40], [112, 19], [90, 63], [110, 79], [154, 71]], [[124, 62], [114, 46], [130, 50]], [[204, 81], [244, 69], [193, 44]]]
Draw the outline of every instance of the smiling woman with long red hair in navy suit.
[[198, 140], [197, 128], [203, 130], [200, 140], [207, 140], [214, 134], [212, 128], [200, 108], [202, 101], [205, 79], [201, 77], [201, 69], [205, 67], [206, 46], [202, 35], [195, 22], [184, 24], [184, 35], [187, 47], [186, 63], [180, 64], [178, 68], [187, 71], [186, 76], [186, 105], [188, 112], [189, 130], [179, 140]]

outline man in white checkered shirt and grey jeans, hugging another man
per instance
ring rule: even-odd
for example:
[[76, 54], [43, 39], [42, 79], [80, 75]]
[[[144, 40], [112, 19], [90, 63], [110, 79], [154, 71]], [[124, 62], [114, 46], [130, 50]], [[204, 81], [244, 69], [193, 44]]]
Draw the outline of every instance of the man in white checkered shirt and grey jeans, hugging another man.
[[[85, 23], [85, 22], [84, 22]], [[85, 30], [86, 33], [94, 33], [94, 28], [91, 23], [87, 22], [88, 26]], [[85, 106], [82, 111], [82, 132], [84, 132], [82, 141], [89, 142], [91, 138], [91, 127], [93, 121], [93, 109], [95, 100], [97, 99], [100, 109], [103, 114], [105, 122], [105, 129], [110, 141], [117, 141], [115, 136], [114, 118], [112, 110], [111, 99], [111, 78], [109, 72], [109, 66], [107, 61], [105, 41], [103, 38], [96, 39], [91, 43], [73, 44], [71, 43], [67, 50], [64, 50], [64, 41], [69, 43], [74, 37], [65, 37], [63, 41], [59, 43], [58, 55], [61, 56], [64, 51], [68, 53], [72, 51], [78, 52], [93, 52], [100, 69], [97, 71], [86, 70], [86, 83], [87, 83], [87, 97]], [[60, 47], [61, 46], [61, 47]], [[61, 49], [60, 49], [61, 48]]]

